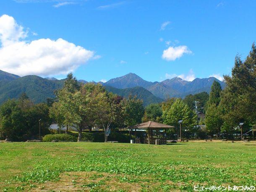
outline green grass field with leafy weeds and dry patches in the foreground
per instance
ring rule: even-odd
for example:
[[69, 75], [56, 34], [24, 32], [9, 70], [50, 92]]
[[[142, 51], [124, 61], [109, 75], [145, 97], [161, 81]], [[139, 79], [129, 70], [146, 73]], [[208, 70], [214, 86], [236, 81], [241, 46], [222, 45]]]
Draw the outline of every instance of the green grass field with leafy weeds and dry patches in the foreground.
[[256, 186], [256, 143], [0, 143], [1, 191]]

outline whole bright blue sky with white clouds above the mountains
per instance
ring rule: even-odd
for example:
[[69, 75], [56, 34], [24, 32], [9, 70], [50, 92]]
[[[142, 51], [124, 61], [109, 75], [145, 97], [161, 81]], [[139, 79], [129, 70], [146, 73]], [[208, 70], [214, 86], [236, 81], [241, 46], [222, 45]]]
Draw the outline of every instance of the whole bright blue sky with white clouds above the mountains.
[[0, 70], [222, 80], [256, 41], [255, 10], [255, 0], [1, 0]]

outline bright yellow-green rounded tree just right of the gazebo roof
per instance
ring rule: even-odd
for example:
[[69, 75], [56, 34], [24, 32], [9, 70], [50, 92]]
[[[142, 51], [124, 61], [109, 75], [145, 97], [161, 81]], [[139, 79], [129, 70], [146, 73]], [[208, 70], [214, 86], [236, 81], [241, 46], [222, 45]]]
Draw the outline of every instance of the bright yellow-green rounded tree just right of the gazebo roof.
[[188, 105], [180, 98], [163, 111], [164, 123], [175, 127], [179, 126], [179, 120], [183, 120], [183, 127], [193, 128], [196, 125], [196, 119], [196, 113], [189, 109]]

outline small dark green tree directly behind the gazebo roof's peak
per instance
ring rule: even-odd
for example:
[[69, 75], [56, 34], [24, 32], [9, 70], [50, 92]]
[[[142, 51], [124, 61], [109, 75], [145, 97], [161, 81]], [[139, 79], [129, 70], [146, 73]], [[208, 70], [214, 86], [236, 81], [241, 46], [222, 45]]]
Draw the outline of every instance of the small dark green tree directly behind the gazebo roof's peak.
[[149, 104], [146, 106], [142, 121], [162, 122], [162, 114], [163, 112], [160, 104]]

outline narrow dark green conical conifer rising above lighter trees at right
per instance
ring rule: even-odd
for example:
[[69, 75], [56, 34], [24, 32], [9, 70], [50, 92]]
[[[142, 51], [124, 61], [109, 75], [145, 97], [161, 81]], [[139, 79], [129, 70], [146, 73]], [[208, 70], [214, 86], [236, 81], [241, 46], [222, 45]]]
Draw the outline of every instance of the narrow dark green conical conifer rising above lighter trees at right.
[[221, 91], [222, 91], [221, 85], [219, 84], [219, 82], [214, 80], [214, 82], [212, 83], [207, 105], [215, 104], [216, 106], [218, 106], [220, 102]]

